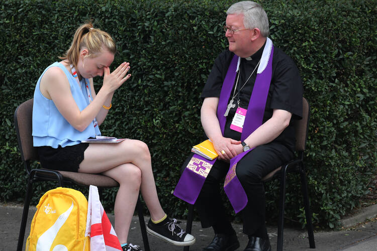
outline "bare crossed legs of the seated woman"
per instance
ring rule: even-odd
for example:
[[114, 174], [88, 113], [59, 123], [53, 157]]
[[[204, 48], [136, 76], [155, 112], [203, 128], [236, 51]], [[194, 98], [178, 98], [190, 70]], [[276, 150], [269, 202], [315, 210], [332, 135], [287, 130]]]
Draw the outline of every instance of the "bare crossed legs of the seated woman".
[[127, 241], [139, 187], [151, 218], [159, 220], [165, 215], [158, 200], [150, 153], [145, 143], [125, 140], [117, 144], [90, 144], [78, 171], [103, 173], [120, 184], [114, 212], [115, 231], [121, 243]]

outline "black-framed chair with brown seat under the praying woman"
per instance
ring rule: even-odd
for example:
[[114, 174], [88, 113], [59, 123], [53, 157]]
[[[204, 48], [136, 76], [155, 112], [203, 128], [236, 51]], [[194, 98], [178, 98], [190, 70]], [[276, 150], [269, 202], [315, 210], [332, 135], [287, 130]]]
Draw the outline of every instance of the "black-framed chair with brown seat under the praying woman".
[[[89, 187], [97, 186], [99, 189], [118, 187], [119, 184], [114, 179], [101, 174], [83, 174], [66, 171], [55, 171], [49, 169], [32, 169], [31, 162], [38, 160], [38, 154], [33, 147], [32, 137], [32, 114], [33, 99], [29, 99], [20, 104], [14, 114], [14, 123], [17, 133], [17, 140], [20, 148], [21, 158], [28, 174], [27, 190], [22, 213], [21, 228], [17, 244], [17, 250], [21, 251], [24, 243], [26, 222], [29, 213], [30, 200], [32, 197], [33, 183], [35, 181], [56, 181], [60, 187], [76, 184], [79, 186]], [[140, 196], [136, 204], [136, 211], [139, 216], [140, 228], [143, 237], [144, 250], [149, 251], [149, 242], [144, 222], [143, 206]]]

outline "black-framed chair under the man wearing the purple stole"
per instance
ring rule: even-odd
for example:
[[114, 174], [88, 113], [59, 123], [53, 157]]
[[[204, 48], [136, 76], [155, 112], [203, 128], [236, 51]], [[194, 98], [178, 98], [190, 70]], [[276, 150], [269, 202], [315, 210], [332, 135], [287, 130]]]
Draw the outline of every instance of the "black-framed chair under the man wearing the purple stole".
[[[314, 231], [312, 224], [312, 215], [310, 212], [310, 203], [308, 195], [308, 182], [306, 179], [306, 168], [304, 165], [304, 151], [306, 146], [306, 140], [308, 137], [308, 125], [310, 117], [310, 106], [308, 101], [303, 97], [303, 118], [295, 120], [295, 133], [296, 133], [296, 152], [297, 157], [291, 160], [284, 166], [281, 166], [265, 177], [262, 178], [263, 182], [279, 178], [280, 179], [280, 195], [279, 195], [279, 214], [278, 214], [278, 226], [277, 226], [277, 250], [282, 250], [283, 234], [284, 234], [284, 209], [286, 202], [286, 178], [288, 173], [299, 173], [301, 177], [301, 189], [304, 199], [305, 216], [306, 216], [306, 228], [308, 230], [309, 246], [310, 248], [316, 248], [314, 240]], [[187, 215], [186, 232], [191, 233], [193, 225], [193, 213], [194, 205], [189, 205], [189, 213]], [[183, 250], [188, 251], [189, 246], [183, 247]]]

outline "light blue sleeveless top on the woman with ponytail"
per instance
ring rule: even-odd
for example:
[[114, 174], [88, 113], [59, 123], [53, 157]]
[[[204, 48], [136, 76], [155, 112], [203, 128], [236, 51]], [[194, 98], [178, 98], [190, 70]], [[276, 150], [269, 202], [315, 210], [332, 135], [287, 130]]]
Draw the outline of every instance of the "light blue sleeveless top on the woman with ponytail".
[[55, 62], [48, 66], [39, 77], [34, 91], [33, 145], [35, 147], [50, 146], [52, 148], [58, 148], [59, 145], [61, 147], [73, 146], [90, 137], [95, 138], [96, 135], [101, 135], [100, 129], [98, 126], [95, 127], [93, 123], [90, 123], [83, 132], [74, 129], [60, 114], [54, 102], [42, 95], [39, 85], [42, 76], [50, 67], [59, 67], [63, 70], [67, 76], [72, 96], [80, 111], [89, 104], [85, 87], [85, 82], [89, 84], [88, 79], [81, 78], [80, 88], [77, 84], [77, 80], [72, 76], [72, 73], [64, 67], [64, 65]]

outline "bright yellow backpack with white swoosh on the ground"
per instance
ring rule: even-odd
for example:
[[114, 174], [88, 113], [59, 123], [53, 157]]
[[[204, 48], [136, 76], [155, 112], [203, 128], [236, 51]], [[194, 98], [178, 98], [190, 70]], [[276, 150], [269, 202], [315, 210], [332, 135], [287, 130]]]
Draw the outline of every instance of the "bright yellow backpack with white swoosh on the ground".
[[74, 189], [58, 187], [39, 200], [26, 251], [90, 250], [85, 237], [87, 200]]

